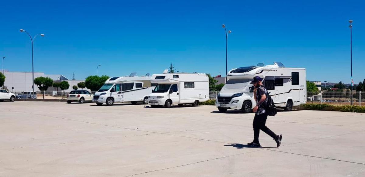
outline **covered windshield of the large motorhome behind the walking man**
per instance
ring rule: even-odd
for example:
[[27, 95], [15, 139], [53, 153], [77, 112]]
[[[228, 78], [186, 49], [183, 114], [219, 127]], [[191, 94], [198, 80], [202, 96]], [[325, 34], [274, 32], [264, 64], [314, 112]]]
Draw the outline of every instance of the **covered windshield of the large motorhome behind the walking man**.
[[220, 92], [250, 92], [252, 79], [230, 79], [224, 84]]

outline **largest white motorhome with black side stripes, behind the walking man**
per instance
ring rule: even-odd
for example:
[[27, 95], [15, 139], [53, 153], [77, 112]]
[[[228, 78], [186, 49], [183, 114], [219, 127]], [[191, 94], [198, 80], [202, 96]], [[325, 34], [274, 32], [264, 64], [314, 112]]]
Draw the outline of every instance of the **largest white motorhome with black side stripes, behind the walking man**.
[[257, 66], [234, 68], [228, 72], [227, 83], [216, 99], [218, 110], [226, 112], [227, 109], [235, 109], [244, 113], [251, 112], [256, 106], [251, 84], [254, 76], [264, 79], [262, 83], [277, 107], [291, 111], [293, 106], [307, 101], [305, 68], [286, 68], [280, 62], [267, 66], [259, 63]]

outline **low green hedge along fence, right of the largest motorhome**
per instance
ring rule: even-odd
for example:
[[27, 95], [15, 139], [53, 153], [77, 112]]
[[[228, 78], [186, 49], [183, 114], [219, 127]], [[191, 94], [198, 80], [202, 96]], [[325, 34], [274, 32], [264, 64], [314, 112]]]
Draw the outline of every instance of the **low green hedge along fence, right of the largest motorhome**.
[[304, 104], [297, 106], [296, 109], [365, 113], [365, 106], [350, 105], [335, 106], [327, 104]]

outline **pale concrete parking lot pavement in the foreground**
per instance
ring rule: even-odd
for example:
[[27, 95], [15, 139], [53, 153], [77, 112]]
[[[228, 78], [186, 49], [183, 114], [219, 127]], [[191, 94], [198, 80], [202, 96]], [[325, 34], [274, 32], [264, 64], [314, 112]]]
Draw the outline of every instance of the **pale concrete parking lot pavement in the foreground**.
[[365, 114], [253, 114], [214, 106], [0, 103], [0, 176], [365, 176]]

